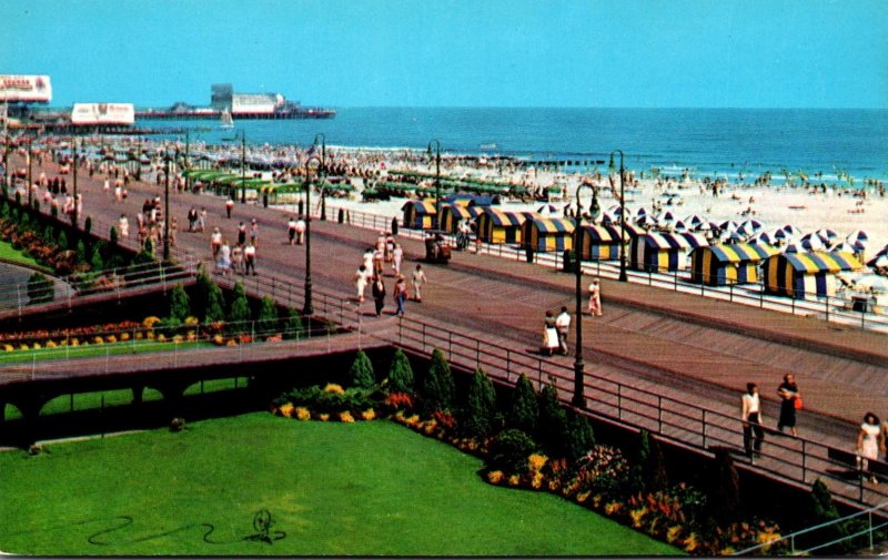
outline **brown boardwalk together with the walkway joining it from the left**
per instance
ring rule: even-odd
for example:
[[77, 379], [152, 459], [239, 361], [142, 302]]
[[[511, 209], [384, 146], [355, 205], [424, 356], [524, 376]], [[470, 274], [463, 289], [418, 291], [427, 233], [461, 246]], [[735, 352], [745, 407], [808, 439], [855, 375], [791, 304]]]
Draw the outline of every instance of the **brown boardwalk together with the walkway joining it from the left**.
[[[130, 198], [115, 203], [102, 192], [100, 181], [83, 181], [84, 215], [92, 216], [94, 232], [108, 231], [121, 212], [134, 214], [142, 200], [160, 191], [157, 185], [134, 184]], [[220, 284], [231, 286], [239, 281], [251, 295], [302, 306], [305, 246], [286, 243], [285, 212], [239, 204], [229, 220], [223, 198], [170, 195], [171, 214], [180, 223], [185, 223], [191, 206], [205, 206], [209, 231], [220, 227], [229, 240], [236, 238], [239, 222], [256, 220], [259, 224], [259, 274], [215, 275]], [[4, 366], [0, 368], [0, 400], [13, 386], [71, 383], [78, 377], [161, 375], [180, 364], [212, 368], [235, 362], [260, 368], [263, 360], [286, 359], [282, 356], [354, 352], [365, 346], [400, 347], [426, 356], [440, 348], [460, 370], [482, 367], [502, 384], [514, 384], [524, 374], [538, 385], [554, 383], [565, 404], [573, 400], [573, 357], [546, 357], [538, 349], [543, 313], [574, 307], [572, 275], [519, 258], [456, 252], [446, 266], [424, 266], [430, 283], [422, 303], [408, 302], [406, 315], [396, 317], [390, 299], [386, 312], [376, 317], [371, 302], [356, 302], [353, 278], [363, 252], [375, 243], [381, 224], [391, 223], [391, 217], [374, 220], [371, 227], [356, 227], [316, 220], [319, 208], [311, 210], [315, 216], [315, 315], [347, 333], [329, 337], [327, 343], [324, 337], [310, 337], [262, 343], [249, 349], [203, 348], [173, 357], [167, 353], [142, 360], [109, 354]], [[213, 269], [209, 241], [209, 232], [179, 232], [174, 258]], [[417, 235], [404, 231], [397, 242], [405, 254], [402, 272], [408, 275], [422, 263], [424, 245]], [[739, 400], [746, 384], [761, 387], [765, 424], [774, 428], [778, 416], [776, 389], [783, 376], [791, 373], [805, 398], [805, 409], [799, 413], [800, 437], [771, 429], [761, 458], [753, 465], [738, 452], [738, 468], [800, 488], [821, 478], [835, 496], [850, 503], [885, 500], [888, 493], [880, 486], [845, 476], [847, 466], [836, 460], [840, 452], [854, 451], [862, 415], [868, 410], [878, 414], [885, 406], [885, 335], [678, 291], [607, 278], [602, 282], [604, 316], [578, 318], [586, 334], [584, 414], [626, 429], [647, 429], [663, 441], [704, 455], [717, 449], [740, 451]], [[385, 283], [391, 294], [391, 271], [386, 271]], [[17, 313], [40, 313], [40, 308]], [[573, 333], [568, 344], [573, 347]]]

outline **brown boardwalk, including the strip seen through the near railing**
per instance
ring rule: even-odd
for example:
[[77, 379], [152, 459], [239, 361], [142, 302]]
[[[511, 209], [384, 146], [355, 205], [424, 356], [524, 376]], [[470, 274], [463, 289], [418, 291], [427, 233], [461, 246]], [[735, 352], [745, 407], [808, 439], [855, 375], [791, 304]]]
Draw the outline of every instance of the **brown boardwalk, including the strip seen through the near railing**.
[[[52, 176], [52, 172], [48, 174]], [[102, 192], [98, 175], [91, 182], [83, 179], [81, 185], [85, 193], [84, 214], [93, 216], [97, 232], [107, 231], [121, 212], [134, 215], [147, 196], [159, 192], [162, 195], [162, 189], [154, 185], [134, 185], [130, 187], [130, 200], [115, 204]], [[186, 223], [189, 207], [206, 206], [210, 228], [220, 226], [229, 240], [236, 238], [239, 221], [249, 223], [255, 218], [260, 227], [259, 276], [245, 278], [248, 289], [261, 293], [276, 289], [279, 299], [301, 306], [305, 247], [285, 244], [284, 213], [238, 204], [232, 220], [226, 220], [223, 201], [206, 195], [174, 194], [170, 204], [180, 224]], [[354, 272], [377, 232], [315, 220], [312, 233], [315, 302], [329, 299], [327, 307], [339, 305], [342, 315], [349, 304], [335, 302], [353, 297]], [[404, 236], [398, 242], [405, 252], [403, 268], [408, 273], [424, 247], [420, 241]], [[178, 243], [180, 257], [210, 256], [209, 233], [180, 231]], [[376, 335], [418, 352], [441, 347], [460, 365], [483, 364], [486, 369], [505, 371], [513, 379], [517, 373], [527, 373], [543, 381], [554, 375], [569, 399], [573, 357], [543, 359], [537, 347], [543, 312], [562, 305], [573, 310], [573, 276], [519, 261], [465, 253], [455, 253], [448, 266], [424, 268], [431, 281], [424, 301], [407, 304], [407, 317], [398, 328], [391, 326], [398, 324], [392, 316], [391, 299], [382, 318], [372, 316], [372, 302], [359, 308], [363, 330], [369, 336]], [[389, 274], [386, 285], [391, 294], [393, 278]], [[786, 373], [794, 373], [806, 404], [799, 425], [803, 438], [769, 438], [768, 457], [755, 468], [809, 483], [811, 478], [805, 468], [790, 460], [803, 446], [824, 444], [851, 450], [856, 425], [864, 413], [885, 414], [888, 396], [885, 335], [607, 279], [603, 281], [603, 294], [605, 316], [582, 319], [588, 373], [585, 396], [589, 408], [603, 417], [645, 427], [654, 421], [653, 428], [664, 437], [694, 446], [736, 448], [739, 395], [746, 383], [755, 381], [761, 387], [767, 400], [766, 421], [774, 426], [777, 385]], [[354, 312], [355, 304], [351, 306]], [[573, 342], [572, 329], [572, 347]], [[634, 396], [630, 391], [635, 391]], [[637, 405], [635, 411], [628, 409], [632, 401]], [[667, 405], [677, 418], [674, 421], [667, 418], [664, 424], [663, 418], [652, 419], [640, 411]], [[684, 411], [684, 405], [696, 408]], [[693, 428], [699, 422], [690, 416], [700, 409], [710, 410], [710, 418], [700, 420], [703, 430]], [[811, 461], [823, 461], [825, 452], [825, 448], [819, 448], [819, 456], [811, 454]], [[807, 468], [814, 468], [813, 465]], [[820, 470], [826, 468], [821, 467]], [[852, 486], [836, 489], [856, 497]], [[865, 499], [878, 497], [867, 492]]]

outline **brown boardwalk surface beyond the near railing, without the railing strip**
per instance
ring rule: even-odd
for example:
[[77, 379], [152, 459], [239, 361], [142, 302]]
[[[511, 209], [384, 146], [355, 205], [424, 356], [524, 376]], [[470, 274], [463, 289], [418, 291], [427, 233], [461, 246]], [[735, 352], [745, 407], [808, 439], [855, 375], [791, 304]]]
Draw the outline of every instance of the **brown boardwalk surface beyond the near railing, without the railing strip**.
[[[115, 204], [102, 192], [100, 181], [99, 175], [93, 181], [80, 181], [84, 215], [92, 215], [93, 224], [109, 227], [121, 212], [134, 223], [143, 200], [163, 191], [155, 185], [131, 185], [130, 198]], [[236, 238], [239, 221], [256, 218], [260, 277], [301, 286], [305, 247], [285, 244], [286, 215], [281, 211], [238, 204], [233, 218], [226, 220], [222, 198], [174, 194], [170, 204], [180, 224], [186, 224], [190, 206], [206, 206], [210, 230], [220, 226], [229, 240]], [[102, 228], [93, 225], [93, 231]], [[352, 278], [361, 255], [377, 233], [317, 220], [312, 222], [312, 232], [316, 289], [352, 297]], [[209, 232], [180, 231], [178, 241], [180, 255], [190, 252], [209, 263]], [[424, 246], [403, 236], [400, 242], [405, 251], [404, 269], [412, 271]], [[424, 268], [431, 285], [422, 304], [408, 303], [408, 318], [498, 343], [516, 355], [537, 356], [545, 309], [562, 305], [574, 308], [574, 277], [551, 268], [467, 253], [454, 253], [448, 266]], [[886, 335], [644, 285], [602, 283], [605, 316], [582, 319], [587, 371], [712, 408], [726, 418], [738, 416], [739, 395], [747, 381], [755, 381], [767, 399], [766, 420], [771, 426], [776, 424], [777, 385], [784, 374], [794, 373], [806, 404], [800, 414], [803, 437], [849, 450], [864, 413], [884, 416], [888, 411]], [[391, 294], [391, 276], [386, 286]], [[371, 302], [361, 308], [371, 334], [374, 322], [382, 327], [396, 320], [391, 315], [391, 299], [383, 318], [371, 316]], [[556, 357], [552, 367], [565, 370], [572, 363], [573, 357]], [[738, 425], [725, 429], [738, 439]], [[776, 455], [775, 461], [779, 459]], [[773, 468], [781, 469], [777, 464]]]

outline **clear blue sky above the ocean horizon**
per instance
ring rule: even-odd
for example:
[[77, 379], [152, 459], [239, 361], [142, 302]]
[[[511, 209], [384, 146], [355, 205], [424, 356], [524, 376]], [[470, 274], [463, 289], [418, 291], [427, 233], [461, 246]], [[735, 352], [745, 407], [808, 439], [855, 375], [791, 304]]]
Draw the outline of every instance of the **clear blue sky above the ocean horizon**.
[[888, 108], [884, 0], [2, 0], [52, 105]]

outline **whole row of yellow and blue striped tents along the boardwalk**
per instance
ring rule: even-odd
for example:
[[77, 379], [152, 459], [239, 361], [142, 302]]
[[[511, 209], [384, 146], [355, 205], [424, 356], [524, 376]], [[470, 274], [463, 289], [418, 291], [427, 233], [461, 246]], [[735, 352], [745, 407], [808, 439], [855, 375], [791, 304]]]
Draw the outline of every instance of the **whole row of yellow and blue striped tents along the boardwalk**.
[[[430, 230], [436, 216], [435, 201], [408, 201], [403, 225]], [[476, 223], [482, 242], [518, 244], [535, 252], [573, 251], [574, 221], [534, 212], [504, 212], [478, 204], [472, 197], [443, 198], [441, 228], [455, 232], [461, 220]], [[623, 226], [615, 222], [584, 224], [578, 257], [583, 261], [619, 259]], [[649, 273], [690, 269], [695, 283], [720, 286], [764, 283], [768, 293], [794, 298], [833, 296], [837, 273], [860, 271], [864, 265], [848, 251], [784, 251], [760, 240], [709, 243], [699, 232], [652, 232], [625, 224], [628, 266]], [[877, 255], [888, 256], [888, 247]], [[876, 259], [874, 259], [875, 262]]]

